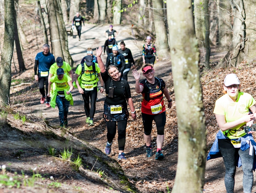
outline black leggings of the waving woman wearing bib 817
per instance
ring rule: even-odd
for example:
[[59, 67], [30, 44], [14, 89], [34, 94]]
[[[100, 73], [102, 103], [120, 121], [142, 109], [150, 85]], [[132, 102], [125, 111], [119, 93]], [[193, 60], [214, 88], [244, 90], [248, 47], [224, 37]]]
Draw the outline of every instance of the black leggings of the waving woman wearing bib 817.
[[107, 125], [107, 139], [108, 143], [112, 143], [115, 134], [116, 134], [116, 124], [117, 124], [117, 132], [118, 132], [118, 150], [125, 150], [125, 133], [127, 120], [123, 121], [105, 121]]

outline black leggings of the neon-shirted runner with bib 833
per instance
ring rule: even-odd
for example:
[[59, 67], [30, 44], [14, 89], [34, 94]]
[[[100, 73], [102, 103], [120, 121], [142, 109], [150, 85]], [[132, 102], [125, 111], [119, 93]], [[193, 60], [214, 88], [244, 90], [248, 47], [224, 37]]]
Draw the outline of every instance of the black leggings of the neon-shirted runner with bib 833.
[[[96, 99], [97, 99], [97, 86], [93, 88], [92, 91], [86, 91], [83, 88], [84, 94], [82, 94], [84, 99], [84, 107], [85, 107], [85, 114], [86, 117], [93, 118], [96, 110]], [[90, 98], [91, 98], [91, 108], [90, 108]]]

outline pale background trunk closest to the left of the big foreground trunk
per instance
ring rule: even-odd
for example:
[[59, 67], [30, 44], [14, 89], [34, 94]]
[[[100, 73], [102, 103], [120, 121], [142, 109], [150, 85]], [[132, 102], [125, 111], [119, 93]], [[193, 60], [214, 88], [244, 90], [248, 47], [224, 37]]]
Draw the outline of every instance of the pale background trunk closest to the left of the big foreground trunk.
[[166, 57], [169, 54], [168, 47], [168, 37], [167, 29], [165, 26], [165, 17], [163, 0], [152, 0], [152, 5], [154, 8], [154, 23], [155, 23], [155, 34], [156, 34], [156, 44], [157, 44], [157, 53], [162, 57]]

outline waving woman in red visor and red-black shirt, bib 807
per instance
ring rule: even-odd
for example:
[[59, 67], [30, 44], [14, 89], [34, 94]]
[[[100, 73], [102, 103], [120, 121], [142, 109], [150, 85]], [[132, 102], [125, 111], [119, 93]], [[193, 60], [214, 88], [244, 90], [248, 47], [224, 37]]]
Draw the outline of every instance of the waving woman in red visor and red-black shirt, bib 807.
[[168, 100], [168, 108], [171, 108], [171, 98], [169, 91], [165, 86], [165, 81], [154, 76], [155, 70], [151, 64], [142, 67], [143, 76], [146, 78], [140, 82], [140, 73], [137, 70], [132, 71], [135, 82], [135, 91], [142, 94], [141, 115], [144, 125], [144, 139], [146, 142], [146, 156], [153, 156], [151, 146], [152, 122], [155, 121], [157, 129], [156, 145], [157, 150], [155, 159], [163, 159], [162, 146], [165, 138], [165, 104], [163, 95]]

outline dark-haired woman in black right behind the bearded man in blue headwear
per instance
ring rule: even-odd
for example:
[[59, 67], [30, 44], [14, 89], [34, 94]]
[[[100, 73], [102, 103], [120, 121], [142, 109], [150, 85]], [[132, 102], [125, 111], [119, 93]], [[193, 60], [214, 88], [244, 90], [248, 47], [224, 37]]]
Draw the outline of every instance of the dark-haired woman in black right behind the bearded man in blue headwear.
[[123, 54], [123, 56], [125, 57], [125, 69], [123, 72], [123, 79], [128, 80], [128, 72], [131, 69], [131, 63], [132, 63], [132, 67], [135, 67], [135, 62], [133, 60], [132, 54], [131, 54], [131, 50], [125, 47], [125, 43], [122, 40], [120, 43], [121, 46], [121, 50], [118, 50], [119, 53]]

